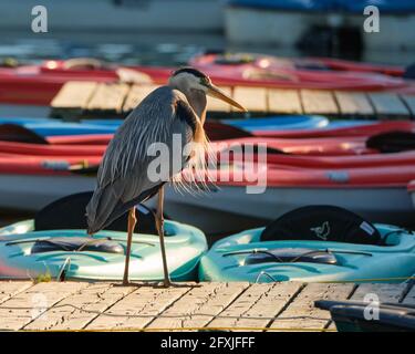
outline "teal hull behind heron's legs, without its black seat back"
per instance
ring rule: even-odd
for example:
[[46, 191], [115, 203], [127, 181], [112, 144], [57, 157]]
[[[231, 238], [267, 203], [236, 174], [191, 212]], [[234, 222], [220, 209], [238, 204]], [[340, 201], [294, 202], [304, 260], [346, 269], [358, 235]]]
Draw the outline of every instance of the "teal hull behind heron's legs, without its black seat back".
[[[31, 222], [32, 220], [25, 221]], [[24, 228], [20, 223], [18, 227]], [[124, 253], [98, 251], [45, 251], [32, 252], [37, 240], [56, 237], [86, 237], [85, 230], [53, 230], [11, 233], [0, 229], [0, 279], [37, 279], [49, 275], [56, 279], [64, 272], [65, 280], [120, 281], [124, 274]], [[172, 280], [196, 280], [200, 256], [207, 250], [204, 233], [194, 227], [166, 220], [166, 253]], [[111, 238], [126, 247], [126, 232], [101, 231], [94, 239]], [[129, 279], [134, 281], [160, 281], [164, 279], [159, 238], [156, 235], [134, 235], [129, 263]]]

